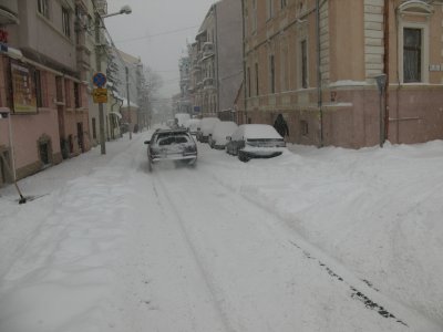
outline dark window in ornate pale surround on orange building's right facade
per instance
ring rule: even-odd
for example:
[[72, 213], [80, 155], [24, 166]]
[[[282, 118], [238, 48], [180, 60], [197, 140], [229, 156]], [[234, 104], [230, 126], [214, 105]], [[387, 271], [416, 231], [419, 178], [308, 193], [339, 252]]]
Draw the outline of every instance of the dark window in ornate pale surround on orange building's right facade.
[[422, 81], [422, 30], [403, 30], [403, 82]]

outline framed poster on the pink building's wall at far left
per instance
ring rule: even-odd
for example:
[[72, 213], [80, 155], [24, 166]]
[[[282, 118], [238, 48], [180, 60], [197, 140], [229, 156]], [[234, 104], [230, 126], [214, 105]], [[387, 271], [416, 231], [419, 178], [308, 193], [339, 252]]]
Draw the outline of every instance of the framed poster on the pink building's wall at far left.
[[35, 84], [29, 68], [11, 63], [14, 113], [37, 113]]

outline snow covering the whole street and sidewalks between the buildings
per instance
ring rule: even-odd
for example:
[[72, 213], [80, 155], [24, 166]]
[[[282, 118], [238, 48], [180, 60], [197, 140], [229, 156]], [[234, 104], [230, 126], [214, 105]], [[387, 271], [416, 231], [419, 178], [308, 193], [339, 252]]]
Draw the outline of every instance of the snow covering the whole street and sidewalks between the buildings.
[[0, 189], [0, 332], [443, 331], [443, 142], [150, 173], [148, 136]]

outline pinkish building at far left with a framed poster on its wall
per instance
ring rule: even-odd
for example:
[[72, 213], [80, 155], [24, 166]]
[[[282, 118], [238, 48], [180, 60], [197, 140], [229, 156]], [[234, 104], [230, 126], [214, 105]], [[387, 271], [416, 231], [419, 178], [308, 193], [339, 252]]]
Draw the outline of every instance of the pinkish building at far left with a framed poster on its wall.
[[0, 15], [0, 159], [21, 178], [90, 149], [86, 86], [74, 1], [2, 1]]

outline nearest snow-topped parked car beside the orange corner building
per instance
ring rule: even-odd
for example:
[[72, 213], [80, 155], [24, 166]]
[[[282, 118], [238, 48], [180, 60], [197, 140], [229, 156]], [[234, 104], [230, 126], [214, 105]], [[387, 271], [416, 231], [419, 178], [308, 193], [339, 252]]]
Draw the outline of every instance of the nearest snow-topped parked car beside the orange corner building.
[[241, 162], [271, 158], [282, 154], [286, 143], [277, 131], [266, 124], [244, 124], [228, 137], [226, 152]]

